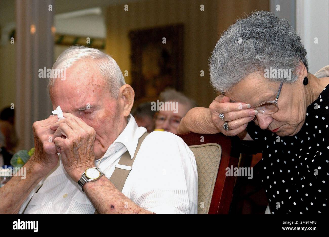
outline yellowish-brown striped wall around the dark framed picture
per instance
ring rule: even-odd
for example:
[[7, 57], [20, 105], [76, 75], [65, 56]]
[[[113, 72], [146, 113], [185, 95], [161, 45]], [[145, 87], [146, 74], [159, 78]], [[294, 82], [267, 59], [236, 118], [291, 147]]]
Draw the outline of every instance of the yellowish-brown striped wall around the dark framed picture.
[[[200, 11], [200, 5], [204, 11]], [[112, 55], [122, 71], [131, 70], [131, 30], [183, 23], [184, 38], [184, 92], [200, 106], [208, 107], [216, 97], [209, 83], [208, 58], [218, 36], [243, 12], [268, 10], [268, 1], [210, 1], [158, 0], [137, 1], [109, 6], [105, 13], [107, 40], [105, 51]], [[200, 77], [200, 70], [205, 76]], [[125, 78], [131, 83], [130, 75]]]

